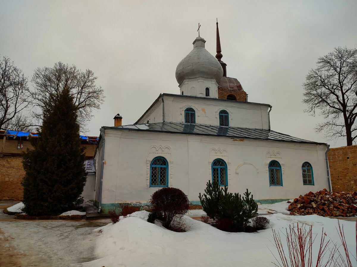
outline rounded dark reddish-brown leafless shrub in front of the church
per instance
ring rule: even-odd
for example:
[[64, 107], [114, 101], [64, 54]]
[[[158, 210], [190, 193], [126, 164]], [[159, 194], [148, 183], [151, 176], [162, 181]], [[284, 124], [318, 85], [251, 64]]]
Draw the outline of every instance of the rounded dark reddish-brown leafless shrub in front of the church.
[[172, 187], [157, 190], [149, 201], [157, 215], [162, 216], [162, 226], [165, 228], [169, 228], [175, 216], [185, 215], [190, 205], [187, 195]]

